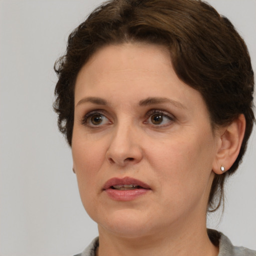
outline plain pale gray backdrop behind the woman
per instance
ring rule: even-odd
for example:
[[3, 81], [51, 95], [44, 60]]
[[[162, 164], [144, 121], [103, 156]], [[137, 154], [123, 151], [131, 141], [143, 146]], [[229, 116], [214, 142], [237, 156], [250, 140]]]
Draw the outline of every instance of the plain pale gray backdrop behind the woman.
[[[53, 63], [100, 0], [0, 0], [0, 255], [73, 255], [97, 235], [52, 111]], [[210, 0], [244, 37], [256, 69], [256, 0]], [[208, 226], [256, 249], [256, 134]]]

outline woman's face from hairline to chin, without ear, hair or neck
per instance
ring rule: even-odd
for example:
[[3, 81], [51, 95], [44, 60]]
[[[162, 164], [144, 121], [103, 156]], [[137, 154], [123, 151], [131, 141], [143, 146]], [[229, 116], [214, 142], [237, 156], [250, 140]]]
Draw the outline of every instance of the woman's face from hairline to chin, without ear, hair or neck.
[[125, 237], [204, 223], [218, 136], [168, 51], [109, 45], [75, 83], [73, 167], [99, 232]]

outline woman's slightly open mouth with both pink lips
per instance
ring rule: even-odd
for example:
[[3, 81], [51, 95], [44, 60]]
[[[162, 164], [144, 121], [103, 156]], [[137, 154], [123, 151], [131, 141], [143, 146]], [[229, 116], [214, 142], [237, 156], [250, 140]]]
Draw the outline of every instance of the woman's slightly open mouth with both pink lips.
[[150, 191], [148, 184], [131, 177], [111, 178], [106, 181], [103, 191], [113, 200], [130, 201]]

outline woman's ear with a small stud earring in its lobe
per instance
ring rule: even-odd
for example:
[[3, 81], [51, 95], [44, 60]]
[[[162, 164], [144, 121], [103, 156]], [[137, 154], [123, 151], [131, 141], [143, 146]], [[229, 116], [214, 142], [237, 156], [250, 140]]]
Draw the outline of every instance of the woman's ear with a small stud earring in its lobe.
[[[217, 153], [212, 166], [212, 170], [216, 174], [222, 174], [234, 163], [240, 151], [245, 124], [245, 117], [240, 114], [229, 125], [219, 128]], [[224, 170], [223, 168], [221, 170], [221, 166], [224, 167]]]

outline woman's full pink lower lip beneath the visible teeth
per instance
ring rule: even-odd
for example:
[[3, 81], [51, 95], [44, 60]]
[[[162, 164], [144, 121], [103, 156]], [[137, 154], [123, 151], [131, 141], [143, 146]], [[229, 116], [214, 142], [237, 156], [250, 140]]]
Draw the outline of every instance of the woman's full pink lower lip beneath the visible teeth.
[[138, 188], [138, 189], [130, 189], [130, 190], [118, 190], [118, 189], [112, 189], [108, 188], [104, 191], [107, 193], [107, 195], [118, 201], [130, 201], [133, 200], [145, 193], [147, 193], [150, 189], [145, 188]]

